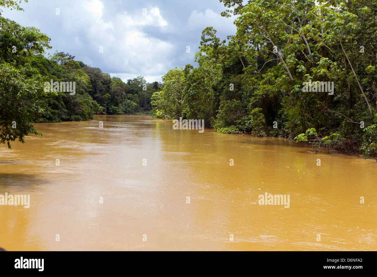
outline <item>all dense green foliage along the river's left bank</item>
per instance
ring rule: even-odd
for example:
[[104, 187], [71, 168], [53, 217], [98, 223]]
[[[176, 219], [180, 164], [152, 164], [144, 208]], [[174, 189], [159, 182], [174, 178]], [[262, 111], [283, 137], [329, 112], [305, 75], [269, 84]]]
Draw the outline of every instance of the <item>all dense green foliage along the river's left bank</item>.
[[[27, 2], [27, 1], [25, 1]], [[22, 10], [16, 1], [0, 0], [0, 7]], [[1, 15], [1, 9], [0, 9]], [[0, 142], [29, 133], [40, 134], [32, 122], [82, 121], [94, 114], [127, 114], [152, 109], [158, 82], [138, 76], [124, 83], [99, 68], [56, 52], [44, 56], [50, 38], [34, 27], [23, 27], [0, 16]], [[45, 82], [60, 86], [46, 86]], [[74, 92], [61, 83], [75, 84]]]

